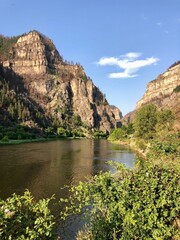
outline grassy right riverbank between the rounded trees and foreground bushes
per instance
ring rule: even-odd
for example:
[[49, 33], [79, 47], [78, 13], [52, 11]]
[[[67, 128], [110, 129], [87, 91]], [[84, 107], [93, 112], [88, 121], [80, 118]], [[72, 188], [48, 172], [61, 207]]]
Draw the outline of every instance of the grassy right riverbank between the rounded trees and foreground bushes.
[[179, 133], [159, 136], [154, 139], [145, 140], [142, 138], [124, 138], [122, 140], [112, 140], [110, 142], [127, 145], [137, 153], [142, 159], [152, 164], [164, 165], [170, 169], [179, 169], [180, 171], [180, 142]]

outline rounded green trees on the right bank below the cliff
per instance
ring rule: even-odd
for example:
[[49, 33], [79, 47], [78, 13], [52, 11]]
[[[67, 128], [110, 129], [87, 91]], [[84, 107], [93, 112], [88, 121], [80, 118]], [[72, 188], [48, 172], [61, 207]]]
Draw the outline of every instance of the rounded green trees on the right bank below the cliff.
[[174, 115], [169, 109], [158, 110], [153, 104], [143, 106], [136, 114], [133, 123], [115, 129], [109, 139], [112, 141], [132, 138], [149, 141], [166, 137], [172, 130]]

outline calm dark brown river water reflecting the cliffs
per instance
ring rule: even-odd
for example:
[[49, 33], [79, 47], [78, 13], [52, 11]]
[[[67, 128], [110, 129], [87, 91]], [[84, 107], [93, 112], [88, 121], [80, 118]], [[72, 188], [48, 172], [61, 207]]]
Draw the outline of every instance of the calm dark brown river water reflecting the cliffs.
[[64, 194], [61, 188], [100, 170], [107, 161], [132, 168], [135, 155], [107, 140], [58, 140], [0, 146], [0, 197], [29, 189], [36, 198]]

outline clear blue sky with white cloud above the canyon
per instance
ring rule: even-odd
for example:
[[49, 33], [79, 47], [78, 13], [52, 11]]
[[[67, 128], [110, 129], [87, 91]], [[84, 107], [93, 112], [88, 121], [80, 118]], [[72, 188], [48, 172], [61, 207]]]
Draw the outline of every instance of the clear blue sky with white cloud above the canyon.
[[50, 37], [123, 115], [180, 60], [180, 0], [0, 0], [0, 24], [5, 36]]

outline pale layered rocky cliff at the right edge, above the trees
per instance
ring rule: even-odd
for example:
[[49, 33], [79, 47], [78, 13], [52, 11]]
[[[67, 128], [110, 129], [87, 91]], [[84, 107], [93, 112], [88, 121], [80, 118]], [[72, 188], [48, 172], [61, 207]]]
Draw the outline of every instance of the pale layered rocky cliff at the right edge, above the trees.
[[180, 128], [180, 62], [173, 64], [163, 74], [147, 84], [147, 89], [135, 111], [127, 114], [123, 123], [132, 121], [136, 111], [145, 104], [153, 103], [159, 108], [170, 109], [175, 114], [175, 125]]

